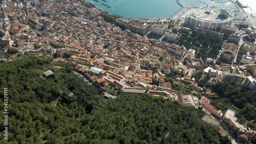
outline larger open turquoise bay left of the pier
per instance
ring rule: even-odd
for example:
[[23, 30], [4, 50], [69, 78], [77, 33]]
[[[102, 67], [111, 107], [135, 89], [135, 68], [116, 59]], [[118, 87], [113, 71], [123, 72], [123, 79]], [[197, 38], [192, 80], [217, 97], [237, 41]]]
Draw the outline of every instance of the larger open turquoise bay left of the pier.
[[[179, 11], [182, 7], [176, 0], [106, 0], [103, 2], [95, 2], [93, 0], [86, 0], [93, 2], [97, 7], [104, 9], [112, 14], [121, 15], [126, 18], [163, 18], [170, 17]], [[107, 8], [102, 5], [111, 6]]]

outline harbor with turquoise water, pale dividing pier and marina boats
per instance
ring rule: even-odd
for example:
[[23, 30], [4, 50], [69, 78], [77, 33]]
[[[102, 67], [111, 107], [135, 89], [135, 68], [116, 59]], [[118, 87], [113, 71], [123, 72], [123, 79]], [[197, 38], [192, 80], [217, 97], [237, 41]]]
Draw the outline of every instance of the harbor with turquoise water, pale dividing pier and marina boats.
[[[91, 1], [91, 0], [85, 0]], [[93, 0], [98, 2], [99, 0]], [[150, 2], [149, 2], [150, 1]], [[228, 0], [176, 0], [176, 1], [168, 1], [168, 0], [141, 0], [141, 1], [118, 1], [118, 0], [102, 0], [103, 3], [96, 3], [95, 5], [102, 10], [106, 10], [112, 14], [121, 15], [126, 18], [132, 19], [175, 19], [183, 20], [181, 15], [183, 15], [186, 11], [193, 11], [191, 9], [199, 8], [199, 9], [218, 9], [227, 7], [230, 9], [238, 9], [237, 5], [232, 1]], [[133, 5], [133, 3], [137, 5]], [[152, 2], [152, 3], [151, 3]], [[161, 3], [158, 3], [161, 2]], [[165, 3], [162, 6], [162, 3]], [[129, 7], [130, 6], [130, 7]], [[169, 9], [169, 6], [172, 6], [173, 9]], [[151, 8], [153, 7], [153, 8]], [[166, 7], [166, 8], [165, 8]], [[129, 9], [131, 8], [131, 9]], [[145, 9], [144, 9], [145, 8]], [[152, 11], [154, 9], [154, 11]], [[141, 13], [140, 11], [143, 11]], [[137, 13], [140, 13], [138, 15]], [[152, 18], [153, 17], [153, 18]]]

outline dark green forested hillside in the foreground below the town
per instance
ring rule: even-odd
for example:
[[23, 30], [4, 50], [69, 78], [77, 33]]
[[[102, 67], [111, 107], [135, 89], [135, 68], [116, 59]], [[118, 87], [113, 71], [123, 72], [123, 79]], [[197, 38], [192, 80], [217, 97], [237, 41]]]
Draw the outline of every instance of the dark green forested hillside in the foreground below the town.
[[[9, 140], [1, 131], [0, 143], [229, 142], [201, 121], [194, 108], [148, 95], [121, 95], [105, 102], [71, 69], [54, 68], [47, 59], [2, 62], [0, 67], [0, 95], [3, 103], [8, 88], [9, 111]], [[54, 77], [42, 78], [49, 69]]]

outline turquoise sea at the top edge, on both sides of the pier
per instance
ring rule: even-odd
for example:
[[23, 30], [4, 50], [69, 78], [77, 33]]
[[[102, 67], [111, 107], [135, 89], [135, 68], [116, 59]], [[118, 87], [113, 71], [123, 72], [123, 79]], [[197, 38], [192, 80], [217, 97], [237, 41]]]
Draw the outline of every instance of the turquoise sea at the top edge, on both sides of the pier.
[[[117, 14], [125, 18], [169, 18], [182, 7], [176, 0], [85, 0], [93, 2], [97, 7], [112, 14]], [[228, 0], [179, 0], [185, 7], [209, 7], [209, 8], [230, 8], [237, 7]], [[254, 0], [253, 0], [254, 1]], [[111, 6], [105, 7], [102, 3]]]

